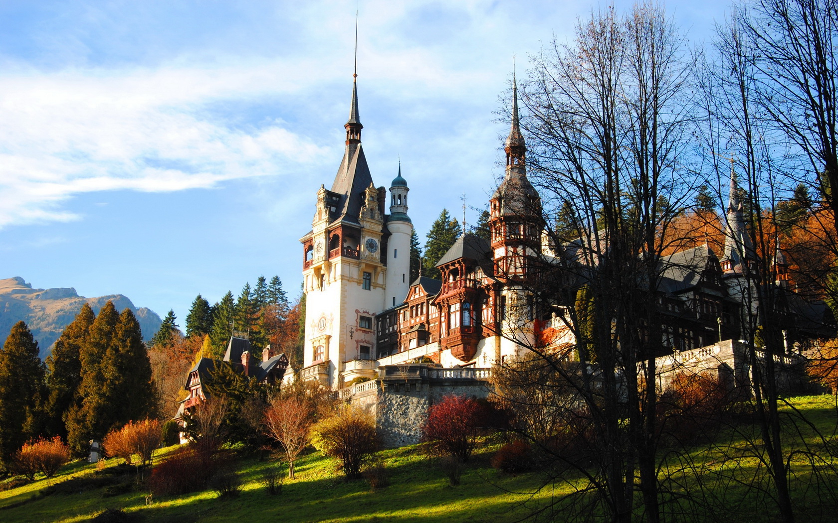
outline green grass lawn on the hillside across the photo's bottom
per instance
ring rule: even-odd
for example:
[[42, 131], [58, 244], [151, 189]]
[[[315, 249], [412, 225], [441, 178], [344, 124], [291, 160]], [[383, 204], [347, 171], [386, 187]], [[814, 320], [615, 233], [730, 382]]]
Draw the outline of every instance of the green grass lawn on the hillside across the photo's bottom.
[[[815, 428], [825, 433], [828, 440], [835, 439], [835, 403], [831, 397], [798, 397], [792, 400], [795, 408], [803, 411]], [[785, 408], [789, 412], [790, 408]], [[815, 436], [814, 428], [798, 424], [789, 435], [815, 448], [823, 442]], [[702, 479], [713, 478], [718, 487], [713, 495], [705, 498], [705, 505], [683, 506], [674, 501], [667, 520], [713, 520], [720, 508], [737, 514], [732, 521], [773, 521], [770, 495], [755, 489], [754, 478], [764, 477], [764, 467], [753, 449], [737, 438], [749, 435], [747, 425], [736, 432], [720, 434], [726, 442], [722, 449], [696, 446], [689, 453], [673, 454], [665, 460], [661, 474], [670, 474], [675, 497], [693, 488], [695, 479], [683, 481], [688, 474], [679, 474], [679, 467], [690, 463], [691, 470], [699, 469]], [[791, 431], [792, 428], [787, 430]], [[753, 430], [751, 430], [753, 433]], [[800, 444], [804, 446], [803, 443]], [[826, 445], [828, 448], [830, 443]], [[546, 480], [540, 473], [508, 475], [489, 466], [489, 459], [497, 445], [487, 445], [465, 466], [462, 483], [450, 486], [447, 477], [433, 460], [422, 454], [420, 446], [385, 450], [379, 453], [390, 471], [391, 484], [384, 489], [371, 491], [364, 480], [346, 482], [336, 469], [333, 459], [318, 452], [307, 454], [296, 464], [297, 479], [285, 480], [280, 495], [268, 495], [261, 485], [262, 474], [274, 461], [255, 458], [239, 459], [237, 472], [242, 480], [242, 492], [237, 498], [220, 499], [214, 491], [204, 490], [175, 498], [147, 499], [147, 490], [102, 485], [116, 483], [136, 485], [136, 472], [107, 474], [97, 473], [95, 464], [77, 461], [65, 466], [53, 479], [39, 479], [17, 489], [0, 492], [0, 521], [3, 523], [40, 521], [86, 521], [105, 510], [119, 508], [132, 514], [137, 521], [192, 521], [212, 522], [241, 520], [259, 521], [515, 521], [530, 513], [535, 506], [543, 505], [551, 495], [561, 496], [572, 489], [571, 484], [551, 485], [536, 495], [531, 495]], [[174, 447], [161, 449], [158, 459], [164, 458]], [[663, 452], [663, 451], [662, 451]], [[741, 453], [742, 459], [732, 460], [732, 454]], [[751, 453], [751, 454], [748, 454]], [[831, 462], [834, 453], [824, 449], [824, 460]], [[820, 455], [820, 454], [819, 454]], [[663, 457], [662, 457], [663, 459]], [[798, 483], [794, 484], [799, 498], [799, 520], [805, 523], [838, 520], [838, 511], [819, 504], [822, 490], [813, 490], [806, 479], [805, 470], [811, 469], [804, 456], [792, 456], [798, 469]], [[797, 460], [797, 461], [795, 461]], [[735, 465], [733, 464], [735, 461]], [[116, 468], [116, 459], [107, 467]], [[808, 468], [807, 468], [808, 467]], [[803, 472], [801, 472], [803, 471]], [[121, 475], [126, 474], [126, 475]], [[762, 476], [760, 476], [762, 474]], [[719, 481], [729, 478], [729, 481]], [[573, 478], [570, 478], [573, 482]], [[835, 479], [835, 478], [833, 478]], [[764, 481], [763, 481], [764, 482]], [[838, 491], [838, 483], [827, 481]], [[52, 485], [53, 493], [49, 494]], [[581, 483], [580, 483], [581, 485]], [[46, 494], [46, 495], [45, 495]], [[715, 496], [715, 499], [714, 499]], [[811, 502], [810, 502], [811, 500]], [[708, 508], [715, 505], [715, 508]], [[691, 511], [695, 517], [685, 516]], [[744, 519], [742, 517], [744, 516]], [[558, 518], [561, 520], [561, 517]], [[727, 520], [727, 519], [726, 519]]]

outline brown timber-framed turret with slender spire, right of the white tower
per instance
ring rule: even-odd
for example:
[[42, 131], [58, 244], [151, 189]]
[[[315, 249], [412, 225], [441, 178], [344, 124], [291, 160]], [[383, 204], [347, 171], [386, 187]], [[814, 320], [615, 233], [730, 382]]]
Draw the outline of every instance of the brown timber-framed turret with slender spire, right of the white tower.
[[526, 177], [526, 144], [518, 119], [518, 85], [513, 78], [512, 124], [504, 146], [504, 180], [489, 200], [489, 230], [494, 274], [501, 281], [522, 281], [535, 269], [541, 252], [541, 197]]

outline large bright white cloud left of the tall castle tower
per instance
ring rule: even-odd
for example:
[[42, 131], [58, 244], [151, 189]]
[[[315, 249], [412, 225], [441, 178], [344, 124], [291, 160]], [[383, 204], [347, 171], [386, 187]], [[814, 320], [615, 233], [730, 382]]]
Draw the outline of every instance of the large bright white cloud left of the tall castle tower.
[[0, 77], [0, 228], [76, 218], [60, 203], [81, 192], [213, 187], [313, 162], [322, 148], [281, 120], [238, 129], [230, 115], [206, 110], [264, 96], [267, 85], [281, 95], [282, 79], [265, 78], [266, 69]]

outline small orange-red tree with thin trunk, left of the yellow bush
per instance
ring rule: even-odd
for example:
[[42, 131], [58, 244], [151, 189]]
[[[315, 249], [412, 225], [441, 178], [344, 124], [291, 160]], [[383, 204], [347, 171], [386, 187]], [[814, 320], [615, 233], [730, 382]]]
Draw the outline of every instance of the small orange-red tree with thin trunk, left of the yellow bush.
[[288, 460], [288, 479], [294, 479], [294, 461], [308, 445], [313, 423], [311, 405], [297, 397], [277, 397], [267, 408], [265, 430], [282, 445]]

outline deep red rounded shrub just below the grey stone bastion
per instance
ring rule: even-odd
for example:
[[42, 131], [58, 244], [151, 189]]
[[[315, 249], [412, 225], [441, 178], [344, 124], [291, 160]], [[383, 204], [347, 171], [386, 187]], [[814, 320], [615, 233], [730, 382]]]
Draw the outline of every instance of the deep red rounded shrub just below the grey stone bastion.
[[427, 411], [422, 441], [440, 454], [468, 461], [483, 426], [484, 408], [474, 399], [448, 395]]

